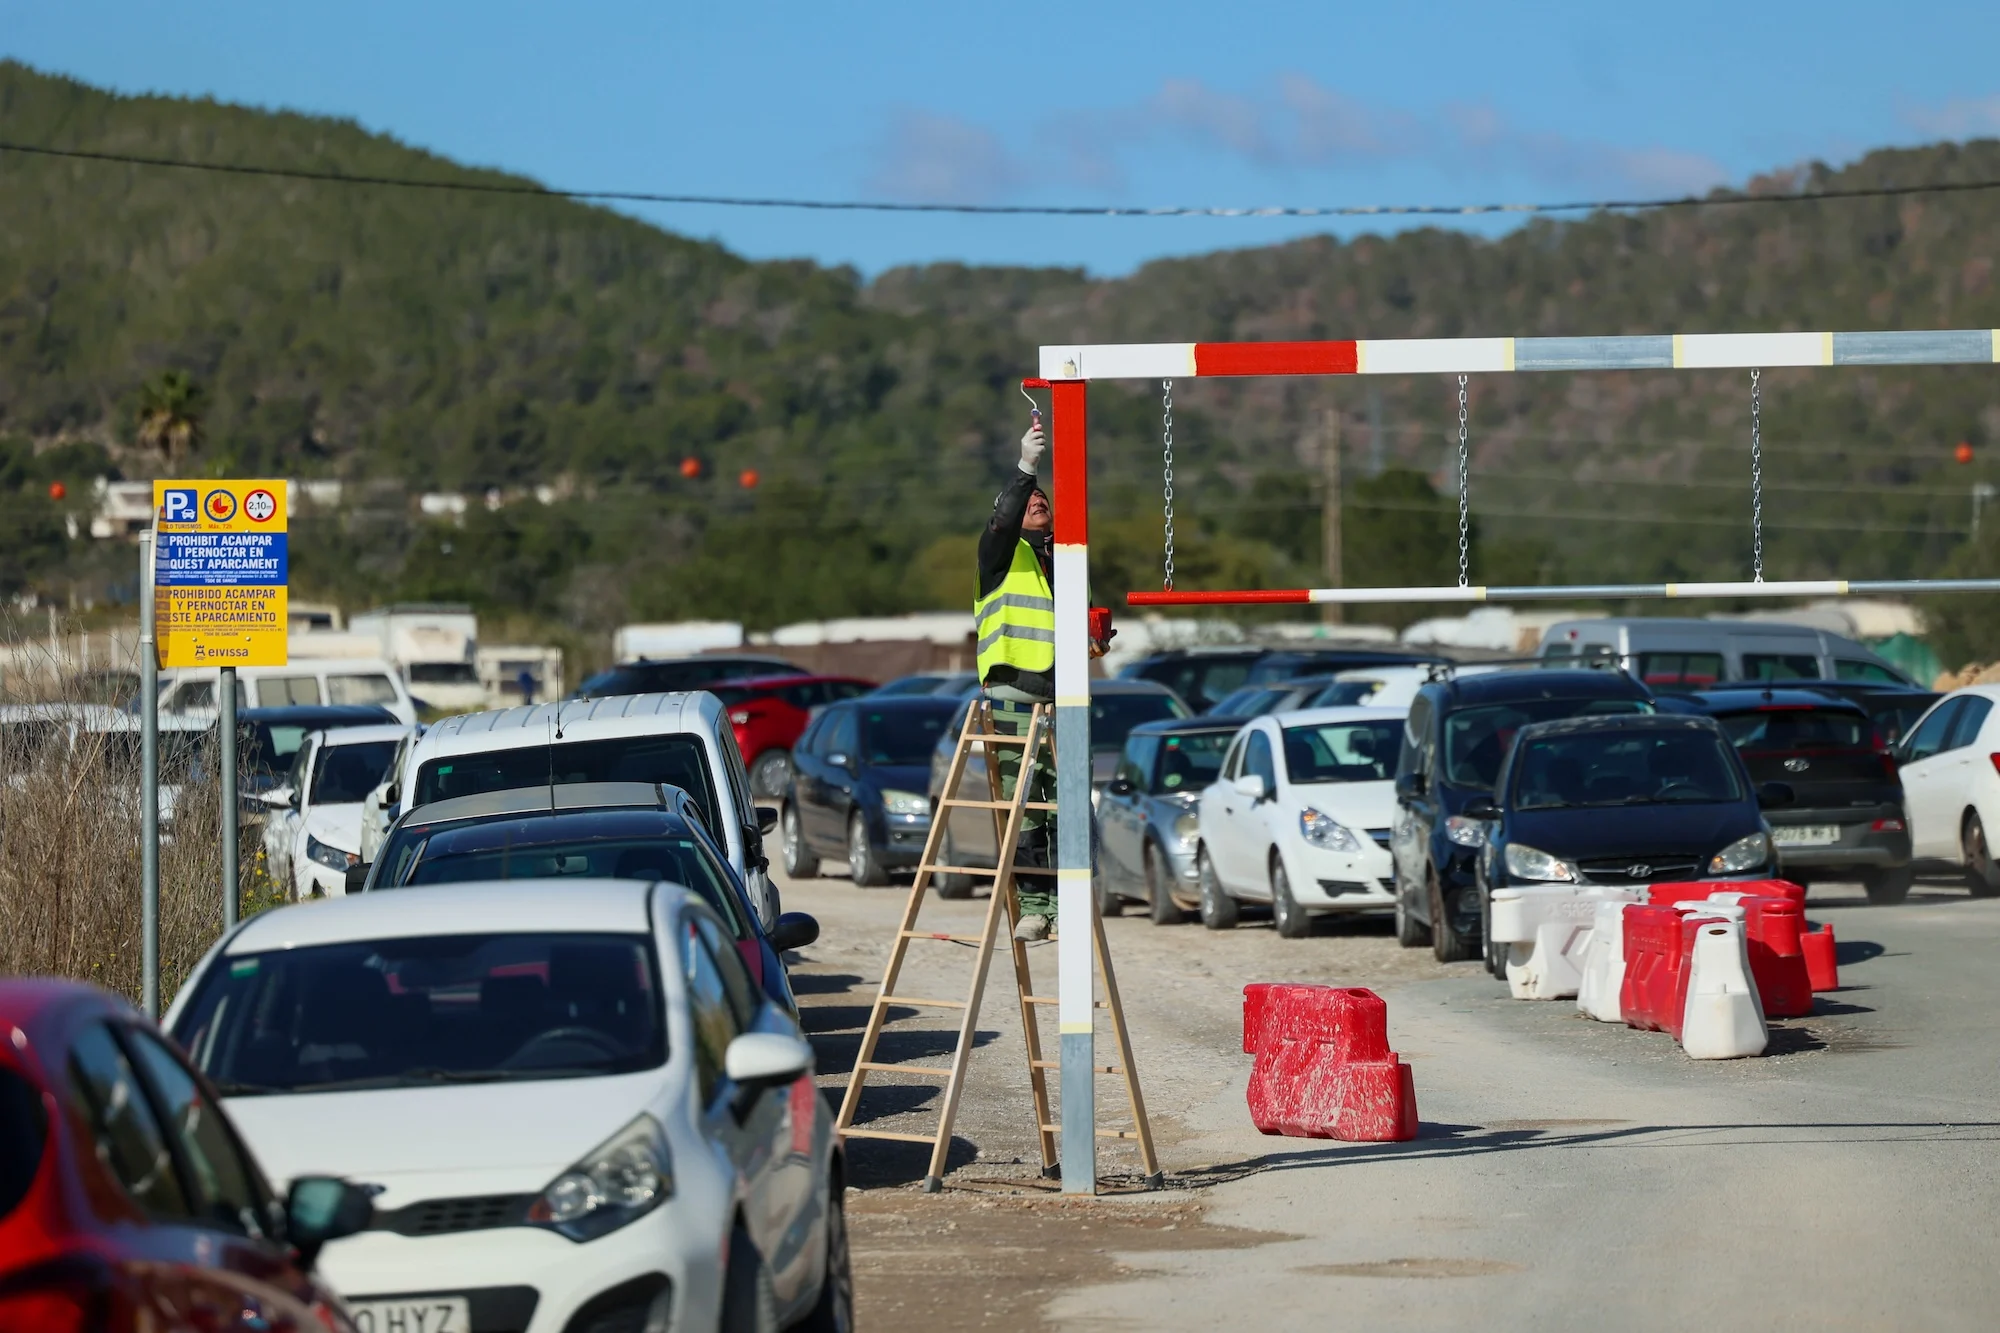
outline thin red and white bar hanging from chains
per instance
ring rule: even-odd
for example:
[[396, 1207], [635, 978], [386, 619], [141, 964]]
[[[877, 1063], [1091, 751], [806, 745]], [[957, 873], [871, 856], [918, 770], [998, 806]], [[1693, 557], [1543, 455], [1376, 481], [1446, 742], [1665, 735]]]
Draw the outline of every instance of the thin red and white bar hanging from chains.
[[2000, 578], [1790, 578], [1780, 582], [1578, 582], [1562, 588], [1230, 588], [1126, 592], [1128, 606], [1258, 606], [1272, 602], [1568, 602], [1654, 596], [1896, 596], [2000, 592]]

